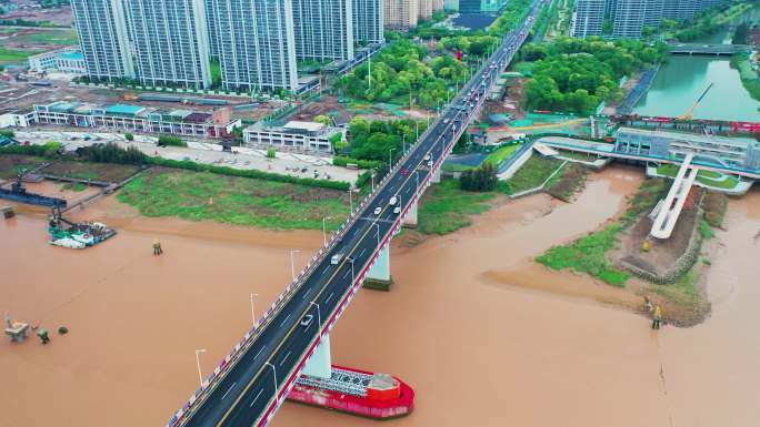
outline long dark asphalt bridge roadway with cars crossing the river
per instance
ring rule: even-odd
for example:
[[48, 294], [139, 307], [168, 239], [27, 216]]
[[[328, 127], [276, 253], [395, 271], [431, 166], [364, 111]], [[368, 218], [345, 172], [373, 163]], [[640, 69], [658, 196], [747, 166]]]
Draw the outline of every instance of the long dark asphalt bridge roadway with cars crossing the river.
[[[357, 220], [326, 250], [326, 255], [267, 319], [251, 344], [241, 349], [226, 373], [212, 382], [194, 405], [186, 407], [179, 420], [172, 419], [170, 426], [251, 427], [269, 423], [319, 338], [332, 328], [371, 262], [400, 225], [389, 200], [399, 196], [401, 215], [417, 202], [431, 174], [441, 166], [457, 138], [477, 114], [488, 89], [524, 42], [544, 3], [546, 0], [534, 2], [529, 18], [506, 35], [501, 48], [397, 163], [357, 214]], [[432, 167], [426, 160], [428, 155]], [[374, 215], [377, 207], [381, 210], [379, 215]], [[337, 265], [331, 264], [334, 254], [343, 254]], [[303, 327], [300, 323], [307, 314], [313, 316], [313, 322]]]

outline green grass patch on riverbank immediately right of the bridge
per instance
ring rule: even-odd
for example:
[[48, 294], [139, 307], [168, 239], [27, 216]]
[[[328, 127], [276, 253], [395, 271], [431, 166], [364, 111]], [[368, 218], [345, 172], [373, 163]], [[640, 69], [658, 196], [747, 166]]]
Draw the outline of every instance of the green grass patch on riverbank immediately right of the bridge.
[[419, 231], [423, 234], [448, 234], [471, 224], [470, 215], [491, 207], [496, 193], [471, 193], [459, 187], [457, 180], [443, 180], [430, 187], [419, 205]]

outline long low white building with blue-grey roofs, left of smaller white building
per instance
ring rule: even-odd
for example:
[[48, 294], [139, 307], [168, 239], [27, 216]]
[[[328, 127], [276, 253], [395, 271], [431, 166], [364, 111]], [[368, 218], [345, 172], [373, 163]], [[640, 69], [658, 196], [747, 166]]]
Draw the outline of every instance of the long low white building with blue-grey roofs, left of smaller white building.
[[[19, 120], [21, 118], [24, 120]], [[118, 132], [168, 133], [199, 139], [229, 136], [234, 128], [241, 125], [240, 120], [231, 120], [229, 109], [206, 113], [129, 104], [103, 106], [63, 101], [34, 105], [32, 112], [14, 113], [12, 119], [19, 128], [52, 124]]]

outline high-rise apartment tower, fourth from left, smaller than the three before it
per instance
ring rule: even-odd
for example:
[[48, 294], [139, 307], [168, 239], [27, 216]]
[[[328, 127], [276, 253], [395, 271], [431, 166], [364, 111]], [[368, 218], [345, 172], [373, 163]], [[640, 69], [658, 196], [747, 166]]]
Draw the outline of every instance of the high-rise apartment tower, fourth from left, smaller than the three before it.
[[298, 59], [353, 59], [353, 0], [290, 2]]

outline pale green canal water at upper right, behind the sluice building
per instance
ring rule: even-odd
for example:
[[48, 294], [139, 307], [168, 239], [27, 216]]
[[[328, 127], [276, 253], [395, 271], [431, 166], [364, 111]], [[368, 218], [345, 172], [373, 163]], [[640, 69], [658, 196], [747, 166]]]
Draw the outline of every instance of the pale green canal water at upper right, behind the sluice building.
[[[759, 18], [760, 8], [754, 8], [737, 18], [736, 23], [757, 22]], [[731, 37], [727, 28], [694, 43], [730, 43]], [[670, 118], [686, 114], [710, 83], [714, 85], [694, 110], [694, 118], [760, 122], [760, 101], [750, 96], [739, 71], [730, 67], [726, 57], [671, 55], [649, 92], [641, 96], [634, 113]]]

